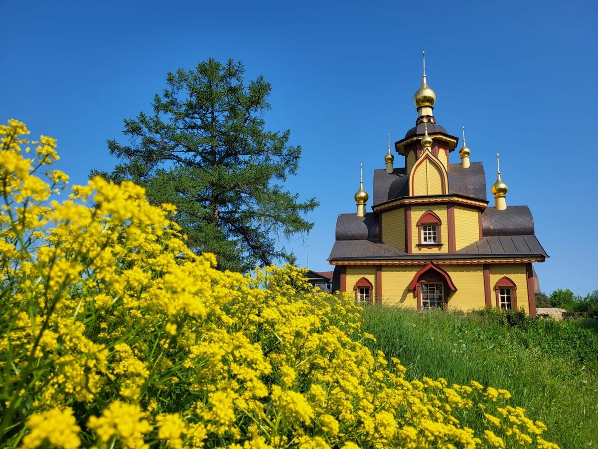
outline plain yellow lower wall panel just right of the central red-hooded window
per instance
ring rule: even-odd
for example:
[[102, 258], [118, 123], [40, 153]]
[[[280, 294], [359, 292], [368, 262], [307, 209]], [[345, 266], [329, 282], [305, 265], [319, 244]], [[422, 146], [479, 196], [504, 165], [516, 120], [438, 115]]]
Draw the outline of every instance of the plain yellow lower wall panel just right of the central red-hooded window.
[[441, 265], [456, 287], [450, 292], [449, 309], [474, 310], [486, 307], [484, 272], [481, 265]]

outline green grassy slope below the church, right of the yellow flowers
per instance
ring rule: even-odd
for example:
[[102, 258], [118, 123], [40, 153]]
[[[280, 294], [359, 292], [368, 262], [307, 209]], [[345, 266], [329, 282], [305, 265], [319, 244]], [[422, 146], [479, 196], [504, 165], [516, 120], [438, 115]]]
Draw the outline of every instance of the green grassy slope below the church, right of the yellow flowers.
[[[374, 350], [397, 357], [409, 379], [476, 380], [507, 389], [511, 405], [548, 426], [562, 448], [598, 443], [598, 326], [595, 320], [556, 323], [520, 313], [463, 314], [367, 307], [364, 330]], [[463, 423], [477, 428], [477, 423]]]

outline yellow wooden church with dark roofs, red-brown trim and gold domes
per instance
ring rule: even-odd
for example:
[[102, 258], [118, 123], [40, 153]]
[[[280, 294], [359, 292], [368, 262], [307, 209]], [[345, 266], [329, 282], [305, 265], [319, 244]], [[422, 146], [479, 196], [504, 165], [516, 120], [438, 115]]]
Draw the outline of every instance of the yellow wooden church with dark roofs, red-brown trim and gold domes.
[[[534, 317], [533, 262], [548, 255], [534, 235], [527, 206], [508, 206], [507, 185], [492, 185], [489, 206], [481, 162], [469, 162], [463, 143], [436, 123], [436, 94], [423, 83], [414, 95], [416, 126], [395, 142], [404, 168], [385, 156], [374, 170], [372, 212], [363, 180], [356, 214], [339, 214], [332, 289], [352, 292], [361, 304], [418, 309], [523, 309]], [[538, 292], [539, 293], [539, 292]]]

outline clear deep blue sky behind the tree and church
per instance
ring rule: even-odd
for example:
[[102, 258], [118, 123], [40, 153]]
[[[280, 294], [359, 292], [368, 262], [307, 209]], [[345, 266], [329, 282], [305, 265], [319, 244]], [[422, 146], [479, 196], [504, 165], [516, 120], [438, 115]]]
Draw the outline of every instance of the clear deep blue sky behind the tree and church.
[[597, 12], [590, 1], [0, 0], [0, 120], [56, 137], [59, 168], [82, 184], [114, 166], [106, 139], [150, 110], [168, 71], [242, 60], [246, 78], [272, 84], [267, 127], [303, 147], [288, 188], [321, 202], [309, 237], [287, 246], [305, 265], [309, 245], [309, 268], [328, 271], [359, 163], [371, 198], [386, 134], [414, 126], [426, 50], [437, 123], [456, 136], [466, 126], [488, 186], [500, 152], [507, 203], [532, 210], [551, 256], [535, 265], [542, 290], [585, 295], [598, 289]]

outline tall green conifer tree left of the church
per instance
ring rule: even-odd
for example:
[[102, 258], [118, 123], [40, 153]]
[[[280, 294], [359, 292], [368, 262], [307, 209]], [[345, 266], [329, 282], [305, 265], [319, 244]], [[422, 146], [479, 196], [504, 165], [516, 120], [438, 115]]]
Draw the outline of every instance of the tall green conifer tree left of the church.
[[319, 205], [283, 187], [301, 147], [289, 145], [288, 129], [266, 129], [271, 86], [261, 76], [245, 84], [244, 71], [242, 62], [209, 59], [169, 72], [153, 114], [124, 120], [129, 144], [108, 140], [122, 162], [109, 174], [92, 172], [144, 186], [151, 204], [176, 205], [188, 246], [233, 271], [294, 262], [283, 243], [312, 229], [304, 215]]

